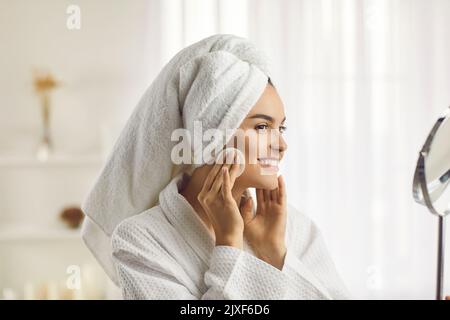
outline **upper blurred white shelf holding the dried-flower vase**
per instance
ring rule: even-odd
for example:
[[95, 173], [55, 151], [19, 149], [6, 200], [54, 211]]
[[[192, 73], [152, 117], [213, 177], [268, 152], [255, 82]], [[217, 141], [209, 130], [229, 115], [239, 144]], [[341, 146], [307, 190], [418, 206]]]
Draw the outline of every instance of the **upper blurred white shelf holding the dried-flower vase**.
[[104, 159], [101, 155], [54, 155], [48, 160], [41, 161], [32, 156], [2, 156], [0, 168], [47, 168], [47, 167], [99, 167]]

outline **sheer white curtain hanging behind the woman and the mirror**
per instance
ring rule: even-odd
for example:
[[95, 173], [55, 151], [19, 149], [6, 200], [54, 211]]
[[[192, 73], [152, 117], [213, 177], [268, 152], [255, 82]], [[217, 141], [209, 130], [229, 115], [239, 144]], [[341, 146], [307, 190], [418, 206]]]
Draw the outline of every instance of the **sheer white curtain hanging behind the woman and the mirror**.
[[214, 33], [264, 50], [286, 108], [289, 201], [354, 297], [434, 298], [436, 219], [411, 184], [450, 104], [450, 1], [164, 0], [149, 17], [152, 75]]

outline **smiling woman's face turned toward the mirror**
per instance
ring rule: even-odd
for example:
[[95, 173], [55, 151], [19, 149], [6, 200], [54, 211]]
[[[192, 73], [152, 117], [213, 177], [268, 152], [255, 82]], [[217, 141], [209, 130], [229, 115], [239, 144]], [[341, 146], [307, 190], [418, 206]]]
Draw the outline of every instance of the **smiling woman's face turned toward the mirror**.
[[241, 132], [246, 132], [245, 139], [242, 139], [245, 143], [243, 146], [235, 143], [234, 146], [245, 156], [245, 169], [235, 184], [269, 190], [278, 187], [279, 162], [287, 149], [283, 138], [285, 120], [281, 98], [268, 84], [239, 127]]

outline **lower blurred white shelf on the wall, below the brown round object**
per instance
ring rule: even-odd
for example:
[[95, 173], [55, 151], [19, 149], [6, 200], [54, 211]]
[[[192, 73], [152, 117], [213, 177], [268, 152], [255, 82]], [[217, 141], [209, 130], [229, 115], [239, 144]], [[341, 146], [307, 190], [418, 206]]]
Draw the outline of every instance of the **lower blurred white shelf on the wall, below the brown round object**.
[[11, 241], [59, 241], [81, 239], [80, 229], [39, 226], [4, 225], [0, 228], [0, 243]]

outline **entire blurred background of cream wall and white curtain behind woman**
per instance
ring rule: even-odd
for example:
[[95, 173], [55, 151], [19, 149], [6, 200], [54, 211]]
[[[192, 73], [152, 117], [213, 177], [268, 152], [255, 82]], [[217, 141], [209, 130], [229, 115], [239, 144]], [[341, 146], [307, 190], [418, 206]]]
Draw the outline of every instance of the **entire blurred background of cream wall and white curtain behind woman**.
[[120, 298], [79, 207], [164, 64], [215, 33], [271, 59], [288, 200], [354, 298], [433, 299], [436, 220], [411, 186], [450, 105], [448, 0], [0, 0], [0, 298]]

